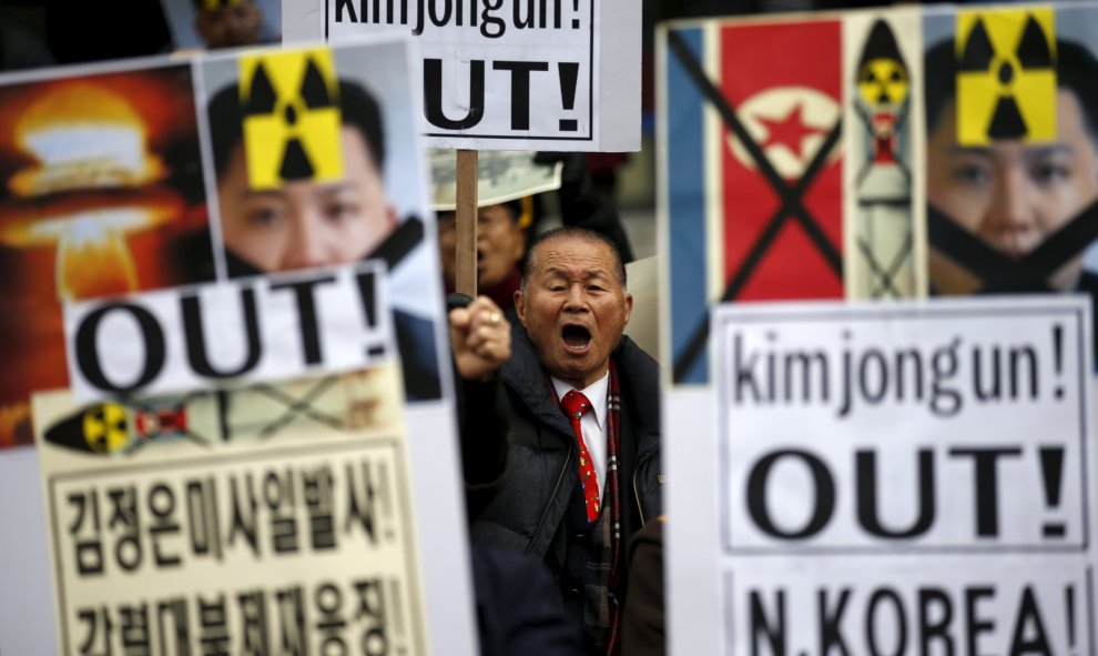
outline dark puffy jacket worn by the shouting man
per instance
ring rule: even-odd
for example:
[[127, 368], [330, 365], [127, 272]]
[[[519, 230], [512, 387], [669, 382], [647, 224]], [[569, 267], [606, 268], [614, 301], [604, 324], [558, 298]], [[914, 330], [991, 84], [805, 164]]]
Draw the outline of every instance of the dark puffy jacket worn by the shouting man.
[[[612, 357], [622, 405], [621, 535], [628, 541], [647, 519], [662, 513], [660, 375], [655, 361], [628, 336]], [[508, 471], [499, 494], [474, 524], [472, 537], [533, 554], [559, 574], [566, 549], [561, 527], [579, 484], [576, 438], [519, 324], [511, 331], [511, 357], [499, 380], [505, 392], [499, 412], [508, 425]]]

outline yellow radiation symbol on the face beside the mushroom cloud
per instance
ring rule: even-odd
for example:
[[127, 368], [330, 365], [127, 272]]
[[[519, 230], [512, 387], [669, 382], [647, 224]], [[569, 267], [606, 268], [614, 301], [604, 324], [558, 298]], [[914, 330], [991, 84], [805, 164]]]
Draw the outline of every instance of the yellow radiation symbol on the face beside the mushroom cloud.
[[241, 57], [244, 153], [252, 189], [343, 179], [338, 84], [326, 48]]

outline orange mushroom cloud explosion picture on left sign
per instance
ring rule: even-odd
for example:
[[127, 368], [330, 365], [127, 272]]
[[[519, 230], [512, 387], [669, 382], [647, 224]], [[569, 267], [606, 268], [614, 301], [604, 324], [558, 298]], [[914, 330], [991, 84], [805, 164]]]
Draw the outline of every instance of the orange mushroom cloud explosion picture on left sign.
[[61, 303], [214, 277], [190, 63], [0, 83], [0, 447], [67, 384]]

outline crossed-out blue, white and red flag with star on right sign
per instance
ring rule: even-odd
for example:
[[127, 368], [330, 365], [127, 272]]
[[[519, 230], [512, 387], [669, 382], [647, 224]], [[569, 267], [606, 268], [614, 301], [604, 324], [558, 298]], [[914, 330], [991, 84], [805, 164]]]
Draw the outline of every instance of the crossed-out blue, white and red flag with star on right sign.
[[837, 20], [665, 33], [673, 382], [704, 383], [708, 309], [841, 299]]

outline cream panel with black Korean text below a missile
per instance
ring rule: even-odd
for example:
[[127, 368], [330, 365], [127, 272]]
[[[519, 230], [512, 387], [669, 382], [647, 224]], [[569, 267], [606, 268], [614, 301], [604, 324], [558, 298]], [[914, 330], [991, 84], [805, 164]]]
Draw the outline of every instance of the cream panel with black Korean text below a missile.
[[426, 653], [395, 365], [34, 398], [62, 653]]

